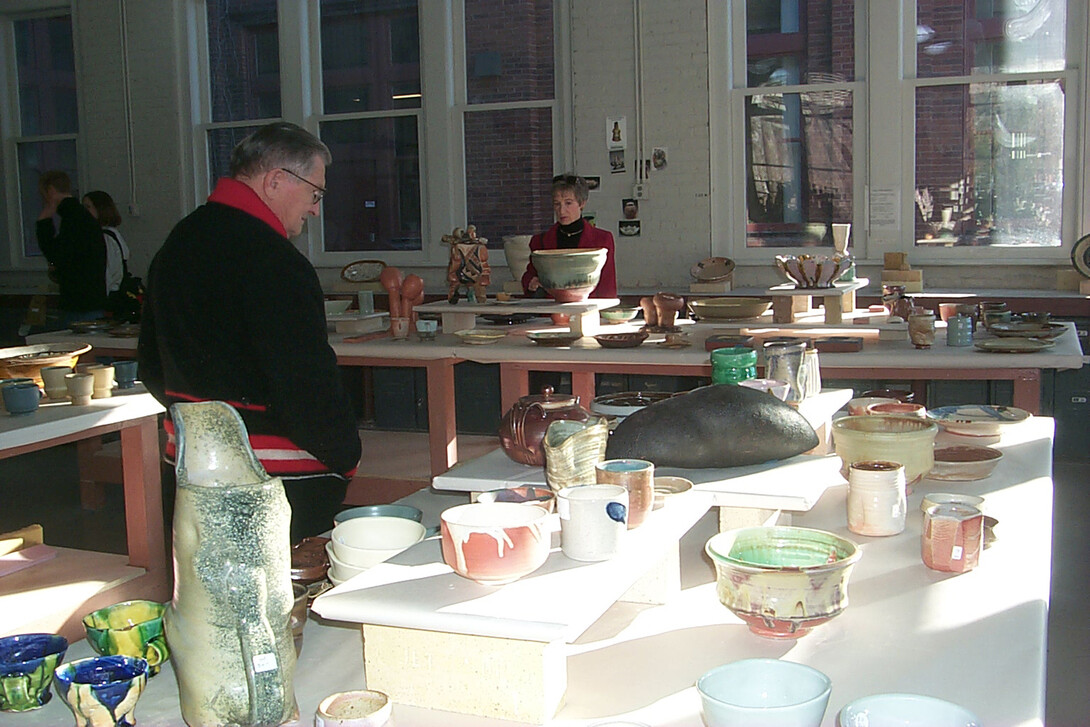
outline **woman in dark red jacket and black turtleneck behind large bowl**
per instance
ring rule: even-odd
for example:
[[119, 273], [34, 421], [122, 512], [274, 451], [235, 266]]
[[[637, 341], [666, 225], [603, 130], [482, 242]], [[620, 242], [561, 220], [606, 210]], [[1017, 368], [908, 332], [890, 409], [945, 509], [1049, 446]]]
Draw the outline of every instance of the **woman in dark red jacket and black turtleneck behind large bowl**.
[[[590, 191], [586, 180], [573, 174], [553, 178], [553, 213], [556, 225], [530, 239], [530, 250], [568, 250], [573, 247], [605, 247], [606, 264], [591, 298], [617, 298], [617, 270], [614, 265], [614, 240], [609, 230], [603, 230], [583, 219], [583, 207]], [[534, 294], [541, 288], [533, 260], [522, 274], [522, 290]]]

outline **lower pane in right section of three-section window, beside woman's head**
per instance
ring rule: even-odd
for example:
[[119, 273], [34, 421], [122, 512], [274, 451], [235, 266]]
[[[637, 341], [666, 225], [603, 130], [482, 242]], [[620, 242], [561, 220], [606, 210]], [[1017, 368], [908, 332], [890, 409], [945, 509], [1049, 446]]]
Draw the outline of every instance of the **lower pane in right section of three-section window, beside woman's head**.
[[502, 247], [506, 234], [553, 223], [553, 114], [549, 109], [465, 114], [467, 223]]

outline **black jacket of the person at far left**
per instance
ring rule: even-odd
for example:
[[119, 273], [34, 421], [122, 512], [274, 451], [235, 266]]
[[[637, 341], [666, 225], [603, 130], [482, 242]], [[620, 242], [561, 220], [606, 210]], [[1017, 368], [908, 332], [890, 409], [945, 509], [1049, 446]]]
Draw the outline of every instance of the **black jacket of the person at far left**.
[[60, 229], [52, 219], [39, 219], [38, 247], [53, 266], [62, 311], [101, 311], [106, 307], [106, 243], [102, 228], [75, 197], [57, 205]]

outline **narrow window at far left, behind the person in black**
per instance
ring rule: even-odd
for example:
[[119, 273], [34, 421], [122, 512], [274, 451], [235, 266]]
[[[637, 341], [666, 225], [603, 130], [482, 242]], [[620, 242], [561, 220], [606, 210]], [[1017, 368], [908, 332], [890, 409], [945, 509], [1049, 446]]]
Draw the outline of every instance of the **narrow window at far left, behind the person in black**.
[[38, 178], [60, 169], [73, 184], [76, 170], [75, 53], [70, 15], [33, 17], [12, 23], [15, 36], [15, 73], [19, 89], [19, 130], [15, 155], [19, 169], [19, 201], [22, 254], [41, 255], [35, 223], [41, 209]]

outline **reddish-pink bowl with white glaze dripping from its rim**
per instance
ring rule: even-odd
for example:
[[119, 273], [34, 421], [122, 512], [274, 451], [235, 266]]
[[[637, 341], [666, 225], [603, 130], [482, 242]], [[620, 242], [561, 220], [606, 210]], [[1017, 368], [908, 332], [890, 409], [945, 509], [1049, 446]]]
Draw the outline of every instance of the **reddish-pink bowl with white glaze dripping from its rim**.
[[517, 581], [548, 558], [548, 517], [543, 508], [517, 502], [471, 502], [444, 510], [443, 559], [477, 583]]

